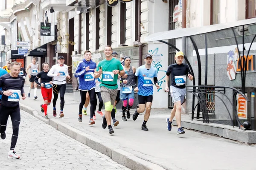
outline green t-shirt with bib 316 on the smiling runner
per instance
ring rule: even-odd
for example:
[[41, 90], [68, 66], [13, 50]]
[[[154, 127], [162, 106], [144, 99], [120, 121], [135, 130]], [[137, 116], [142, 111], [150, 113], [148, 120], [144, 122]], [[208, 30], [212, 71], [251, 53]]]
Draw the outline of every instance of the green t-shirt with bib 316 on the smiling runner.
[[101, 62], [99, 62], [99, 65], [96, 69], [96, 71], [99, 71], [99, 68], [102, 67], [102, 79], [101, 79], [101, 86], [105, 86], [109, 89], [117, 89], [117, 78], [118, 74], [113, 74], [113, 70], [123, 70], [122, 64], [119, 60], [112, 58], [111, 60], [103, 59]]

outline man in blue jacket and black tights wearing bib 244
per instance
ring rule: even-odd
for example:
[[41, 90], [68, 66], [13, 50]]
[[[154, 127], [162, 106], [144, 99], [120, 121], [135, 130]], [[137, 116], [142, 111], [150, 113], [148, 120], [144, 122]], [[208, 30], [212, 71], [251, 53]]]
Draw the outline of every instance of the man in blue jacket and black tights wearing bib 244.
[[84, 51], [84, 59], [76, 66], [75, 77], [78, 77], [81, 102], [79, 105], [78, 120], [82, 122], [82, 108], [85, 103], [86, 94], [90, 96], [90, 120], [89, 125], [95, 124], [93, 114], [96, 110], [97, 99], [95, 93], [94, 69], [96, 63], [92, 61], [92, 53]]

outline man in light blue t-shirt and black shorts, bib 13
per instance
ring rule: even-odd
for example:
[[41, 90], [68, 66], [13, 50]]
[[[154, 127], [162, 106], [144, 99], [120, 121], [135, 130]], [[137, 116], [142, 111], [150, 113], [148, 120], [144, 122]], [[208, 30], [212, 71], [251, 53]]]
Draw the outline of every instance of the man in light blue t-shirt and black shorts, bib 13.
[[144, 61], [145, 65], [140, 66], [136, 73], [134, 74], [134, 82], [138, 79], [138, 87], [134, 88], [135, 92], [138, 92], [139, 108], [136, 109], [132, 116], [133, 120], [136, 120], [140, 113], [143, 113], [146, 108], [146, 113], [144, 115], [144, 121], [141, 126], [141, 130], [148, 131], [146, 123], [150, 116], [151, 105], [153, 101], [153, 85], [160, 88], [157, 83], [157, 69], [151, 67], [153, 57], [150, 54], [145, 55]]

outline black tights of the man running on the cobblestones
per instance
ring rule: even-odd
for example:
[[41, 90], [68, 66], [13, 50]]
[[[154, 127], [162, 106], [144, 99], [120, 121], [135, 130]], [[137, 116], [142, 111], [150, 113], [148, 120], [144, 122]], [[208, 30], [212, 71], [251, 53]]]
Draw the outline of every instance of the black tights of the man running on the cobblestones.
[[20, 105], [14, 107], [0, 106], [0, 133], [4, 133], [6, 131], [9, 115], [12, 120], [12, 143], [10, 150], [14, 150], [19, 135]]

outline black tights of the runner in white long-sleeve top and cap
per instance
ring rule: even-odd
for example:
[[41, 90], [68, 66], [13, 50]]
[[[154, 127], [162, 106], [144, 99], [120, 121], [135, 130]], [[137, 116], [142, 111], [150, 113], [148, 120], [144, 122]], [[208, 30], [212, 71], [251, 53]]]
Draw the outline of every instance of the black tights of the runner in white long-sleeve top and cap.
[[53, 96], [54, 96], [54, 98], [52, 100], [53, 107], [54, 108], [56, 107], [56, 102], [57, 102], [57, 99], [58, 99], [58, 92], [60, 92], [61, 110], [63, 110], [64, 104], [65, 104], [64, 95], [65, 95], [65, 92], [66, 92], [66, 84], [62, 84], [62, 85], [53, 84], [52, 91], [53, 91]]

